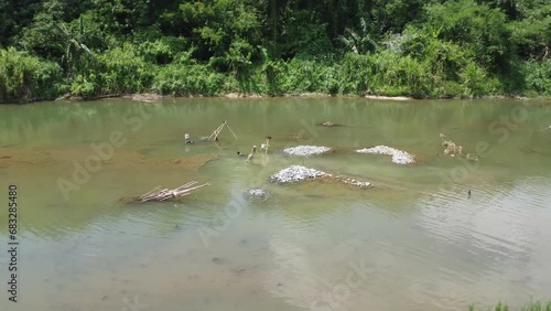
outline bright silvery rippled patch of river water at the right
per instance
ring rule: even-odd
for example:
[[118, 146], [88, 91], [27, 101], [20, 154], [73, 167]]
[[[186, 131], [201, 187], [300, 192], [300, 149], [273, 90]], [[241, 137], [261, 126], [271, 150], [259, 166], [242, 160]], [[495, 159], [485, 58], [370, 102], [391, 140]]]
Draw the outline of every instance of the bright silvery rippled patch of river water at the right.
[[526, 202], [508, 187], [487, 186], [477, 187], [471, 197], [464, 191], [442, 191], [423, 200], [420, 225], [443, 242], [479, 242], [486, 250], [526, 251], [530, 216]]

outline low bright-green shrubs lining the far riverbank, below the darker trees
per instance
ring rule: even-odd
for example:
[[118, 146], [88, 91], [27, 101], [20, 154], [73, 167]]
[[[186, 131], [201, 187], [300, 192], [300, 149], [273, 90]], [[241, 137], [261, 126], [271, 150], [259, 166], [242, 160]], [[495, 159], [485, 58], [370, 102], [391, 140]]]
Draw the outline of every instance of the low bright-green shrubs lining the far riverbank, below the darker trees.
[[551, 61], [520, 65], [517, 92], [468, 61], [454, 64], [455, 78], [446, 78], [439, 61], [422, 63], [411, 56], [383, 51], [262, 63], [246, 73], [219, 72], [210, 64], [187, 57], [156, 65], [131, 45], [91, 54], [87, 65], [64, 75], [62, 67], [14, 49], [0, 50], [0, 100], [24, 103], [60, 96], [97, 98], [133, 93], [170, 96], [220, 96], [228, 93], [280, 96], [321, 93], [329, 95], [409, 96], [414, 98], [473, 98], [483, 96], [551, 96]]

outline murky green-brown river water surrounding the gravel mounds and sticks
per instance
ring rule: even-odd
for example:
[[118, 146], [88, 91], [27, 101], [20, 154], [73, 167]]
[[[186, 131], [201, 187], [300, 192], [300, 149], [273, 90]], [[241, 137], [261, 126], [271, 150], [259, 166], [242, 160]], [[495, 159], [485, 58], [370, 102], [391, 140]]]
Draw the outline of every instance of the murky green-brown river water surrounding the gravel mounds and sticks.
[[[201, 142], [223, 120], [218, 146]], [[321, 127], [332, 121], [338, 127]], [[0, 106], [0, 199], [19, 187], [19, 302], [2, 310], [467, 310], [551, 298], [551, 105], [360, 98]], [[106, 161], [73, 178], [101, 149]], [[184, 133], [195, 140], [184, 144]], [[477, 156], [443, 154], [445, 133]], [[252, 164], [236, 157], [272, 137]], [[285, 158], [299, 144], [315, 158]], [[415, 156], [399, 165], [356, 149]], [[101, 156], [101, 154], [100, 154]], [[110, 156], [110, 157], [107, 157]], [[271, 184], [291, 164], [369, 181]], [[60, 180], [75, 189], [58, 187]], [[156, 185], [212, 185], [122, 204]], [[80, 182], [80, 183], [79, 183]], [[249, 187], [268, 201], [244, 200]], [[471, 197], [467, 191], [472, 191]], [[0, 218], [0, 247], [7, 221]], [[6, 251], [0, 279], [8, 277]], [[363, 267], [363, 268], [358, 268]], [[359, 272], [358, 272], [359, 271]], [[4, 308], [4, 305], [7, 308]]]

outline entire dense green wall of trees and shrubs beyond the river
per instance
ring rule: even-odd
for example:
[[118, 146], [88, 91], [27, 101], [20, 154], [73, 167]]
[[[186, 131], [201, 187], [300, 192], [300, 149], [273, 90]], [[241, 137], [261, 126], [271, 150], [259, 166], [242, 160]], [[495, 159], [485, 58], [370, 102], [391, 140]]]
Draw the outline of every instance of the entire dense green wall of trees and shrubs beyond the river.
[[547, 0], [0, 0], [0, 33], [3, 103], [551, 96]]

